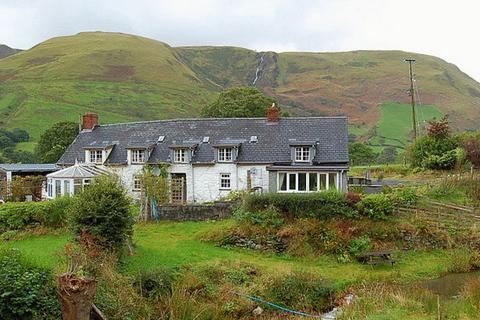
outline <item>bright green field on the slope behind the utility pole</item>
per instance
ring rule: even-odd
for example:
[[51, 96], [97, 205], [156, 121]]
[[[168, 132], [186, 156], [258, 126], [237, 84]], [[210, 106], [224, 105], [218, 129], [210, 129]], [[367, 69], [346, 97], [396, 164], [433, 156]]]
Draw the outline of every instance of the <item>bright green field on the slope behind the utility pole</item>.
[[[408, 137], [412, 131], [412, 109], [408, 104], [395, 102], [384, 103], [380, 107], [381, 118], [378, 122], [376, 134], [369, 140], [369, 144], [377, 151], [384, 146], [394, 146], [405, 149], [410, 143]], [[417, 107], [417, 121], [424, 128], [426, 122], [440, 119], [442, 112], [433, 105]], [[423, 130], [423, 129], [422, 129]], [[418, 133], [421, 134], [422, 130]]]

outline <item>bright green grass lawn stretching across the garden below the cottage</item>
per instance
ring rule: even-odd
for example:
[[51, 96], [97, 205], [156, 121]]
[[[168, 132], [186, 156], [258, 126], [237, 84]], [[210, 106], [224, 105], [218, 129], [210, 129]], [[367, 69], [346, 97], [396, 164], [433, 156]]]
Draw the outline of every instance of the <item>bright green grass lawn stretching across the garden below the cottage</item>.
[[[225, 249], [200, 239], [209, 231], [227, 228], [232, 223], [232, 220], [224, 220], [138, 225], [134, 236], [136, 254], [125, 259], [124, 271], [133, 274], [160, 266], [181, 267], [229, 260], [252, 263], [271, 272], [309, 271], [338, 283], [362, 280], [410, 282], [439, 276], [446, 272], [450, 260], [448, 251], [408, 252], [399, 253], [399, 263], [393, 267], [372, 268], [359, 263], [338, 263], [332, 256], [298, 258], [253, 250]], [[58, 261], [57, 254], [68, 240], [66, 234], [29, 236], [0, 244], [0, 248], [18, 248], [33, 263], [53, 267]]]

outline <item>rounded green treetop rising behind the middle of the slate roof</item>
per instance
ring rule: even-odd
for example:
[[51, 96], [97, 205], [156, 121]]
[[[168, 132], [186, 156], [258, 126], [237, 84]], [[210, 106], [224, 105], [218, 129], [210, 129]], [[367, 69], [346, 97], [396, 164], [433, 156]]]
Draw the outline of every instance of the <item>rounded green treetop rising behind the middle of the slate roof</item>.
[[205, 118], [265, 117], [267, 108], [274, 103], [254, 87], [238, 87], [223, 91], [201, 111]]

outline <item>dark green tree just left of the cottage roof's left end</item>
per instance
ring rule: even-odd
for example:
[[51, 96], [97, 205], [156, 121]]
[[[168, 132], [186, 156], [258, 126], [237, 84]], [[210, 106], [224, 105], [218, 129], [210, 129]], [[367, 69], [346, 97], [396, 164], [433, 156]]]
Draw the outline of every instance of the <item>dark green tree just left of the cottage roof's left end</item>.
[[78, 135], [75, 122], [58, 122], [47, 129], [38, 142], [35, 153], [43, 163], [55, 163]]

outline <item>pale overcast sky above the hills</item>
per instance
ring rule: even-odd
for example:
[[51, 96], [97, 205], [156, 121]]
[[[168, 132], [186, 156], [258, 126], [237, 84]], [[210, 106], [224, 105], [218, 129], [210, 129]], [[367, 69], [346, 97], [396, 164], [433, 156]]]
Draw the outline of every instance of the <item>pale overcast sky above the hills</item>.
[[172, 46], [399, 49], [438, 56], [480, 81], [475, 0], [0, 0], [0, 43], [11, 47], [93, 30]]

